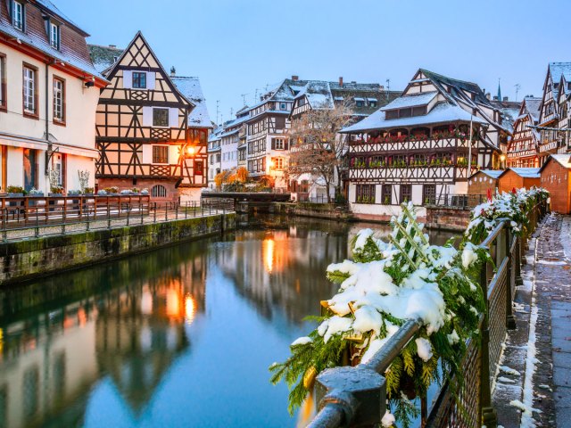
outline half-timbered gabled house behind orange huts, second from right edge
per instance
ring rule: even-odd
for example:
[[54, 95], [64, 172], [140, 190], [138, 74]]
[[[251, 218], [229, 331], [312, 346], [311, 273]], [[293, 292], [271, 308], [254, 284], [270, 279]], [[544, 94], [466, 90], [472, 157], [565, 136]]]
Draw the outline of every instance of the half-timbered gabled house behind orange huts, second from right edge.
[[539, 167], [540, 133], [536, 127], [542, 99], [526, 96], [519, 115], [514, 122], [513, 136], [509, 139], [507, 155], [508, 167]]

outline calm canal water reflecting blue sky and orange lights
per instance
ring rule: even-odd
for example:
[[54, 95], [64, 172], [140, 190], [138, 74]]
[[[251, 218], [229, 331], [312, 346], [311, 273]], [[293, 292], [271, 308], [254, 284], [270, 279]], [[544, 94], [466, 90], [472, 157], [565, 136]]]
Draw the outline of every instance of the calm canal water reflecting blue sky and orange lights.
[[300, 426], [268, 366], [310, 331], [363, 226], [255, 218], [0, 292], [0, 427]]

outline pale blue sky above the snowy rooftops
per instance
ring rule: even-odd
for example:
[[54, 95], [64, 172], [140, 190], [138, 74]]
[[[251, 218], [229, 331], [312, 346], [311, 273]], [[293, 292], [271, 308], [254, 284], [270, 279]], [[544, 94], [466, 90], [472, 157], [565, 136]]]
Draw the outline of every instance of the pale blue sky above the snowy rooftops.
[[425, 68], [492, 95], [500, 78], [521, 100], [571, 61], [568, 0], [52, 1], [88, 43], [125, 47], [140, 29], [166, 70], [201, 79], [219, 122], [293, 75], [396, 90]]

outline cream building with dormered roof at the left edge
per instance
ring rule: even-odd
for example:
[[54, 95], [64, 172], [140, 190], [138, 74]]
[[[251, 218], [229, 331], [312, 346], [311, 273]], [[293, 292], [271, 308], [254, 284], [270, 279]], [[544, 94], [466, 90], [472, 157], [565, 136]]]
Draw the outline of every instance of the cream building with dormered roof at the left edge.
[[77, 190], [79, 171], [94, 185], [95, 109], [108, 82], [91, 62], [87, 36], [50, 2], [0, 4], [3, 191]]

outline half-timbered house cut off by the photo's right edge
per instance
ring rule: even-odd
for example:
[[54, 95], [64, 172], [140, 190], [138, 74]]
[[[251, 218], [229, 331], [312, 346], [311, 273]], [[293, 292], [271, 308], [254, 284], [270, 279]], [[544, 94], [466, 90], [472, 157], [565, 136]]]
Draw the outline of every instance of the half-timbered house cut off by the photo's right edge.
[[[564, 82], [564, 86], [560, 86]], [[540, 109], [539, 128], [541, 143], [539, 161], [542, 165], [550, 154], [567, 152], [565, 135], [559, 131], [559, 95], [567, 91], [567, 83], [571, 82], [571, 62], [550, 62], [543, 83], [542, 105]]]

